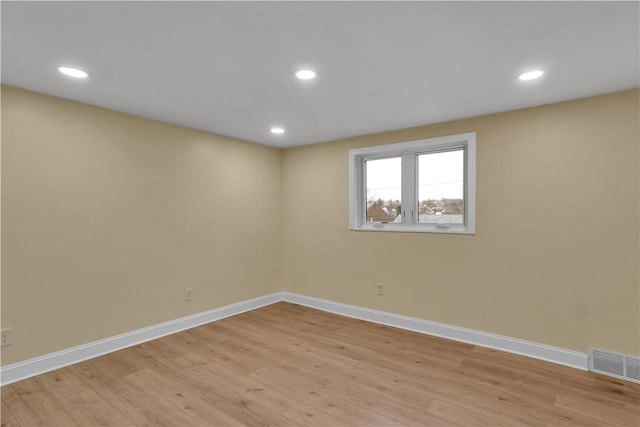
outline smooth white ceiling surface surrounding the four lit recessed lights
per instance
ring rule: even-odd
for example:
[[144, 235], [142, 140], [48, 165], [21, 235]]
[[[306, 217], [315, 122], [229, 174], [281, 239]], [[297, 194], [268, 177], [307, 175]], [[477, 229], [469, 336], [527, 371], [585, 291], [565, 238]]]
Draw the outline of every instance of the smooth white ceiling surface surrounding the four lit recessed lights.
[[[639, 86], [638, 2], [1, 8], [3, 84], [277, 147]], [[295, 79], [300, 66], [317, 79]], [[519, 82], [531, 68], [544, 78]]]

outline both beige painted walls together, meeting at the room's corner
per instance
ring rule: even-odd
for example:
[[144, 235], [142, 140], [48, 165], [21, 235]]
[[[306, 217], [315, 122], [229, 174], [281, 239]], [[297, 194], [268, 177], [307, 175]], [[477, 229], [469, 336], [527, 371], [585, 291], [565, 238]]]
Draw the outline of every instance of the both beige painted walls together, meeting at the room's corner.
[[[3, 87], [2, 363], [280, 289], [640, 354], [638, 100], [282, 151]], [[475, 236], [348, 230], [350, 148], [463, 132]]]

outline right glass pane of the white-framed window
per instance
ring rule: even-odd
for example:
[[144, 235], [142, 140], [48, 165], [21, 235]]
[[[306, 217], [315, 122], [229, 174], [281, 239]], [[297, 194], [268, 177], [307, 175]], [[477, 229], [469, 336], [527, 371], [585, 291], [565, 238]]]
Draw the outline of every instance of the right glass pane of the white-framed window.
[[464, 224], [464, 150], [418, 156], [419, 222]]

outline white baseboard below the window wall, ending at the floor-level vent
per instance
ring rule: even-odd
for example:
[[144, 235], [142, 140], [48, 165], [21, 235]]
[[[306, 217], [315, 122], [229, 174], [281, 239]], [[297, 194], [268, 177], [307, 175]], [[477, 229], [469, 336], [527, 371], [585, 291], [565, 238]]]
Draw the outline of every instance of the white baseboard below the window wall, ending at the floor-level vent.
[[431, 322], [416, 317], [342, 304], [291, 292], [282, 292], [282, 300], [382, 325], [475, 344], [481, 347], [493, 348], [507, 353], [528, 356], [583, 371], [587, 371], [589, 368], [587, 353], [566, 350], [560, 347], [509, 338], [488, 332], [475, 331], [473, 329], [460, 328], [444, 323]]

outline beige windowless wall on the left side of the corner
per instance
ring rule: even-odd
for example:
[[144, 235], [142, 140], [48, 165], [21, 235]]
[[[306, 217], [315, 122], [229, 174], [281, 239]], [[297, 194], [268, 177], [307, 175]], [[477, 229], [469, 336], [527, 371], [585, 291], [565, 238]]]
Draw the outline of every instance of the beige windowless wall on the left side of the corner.
[[281, 157], [2, 87], [2, 363], [280, 290]]

